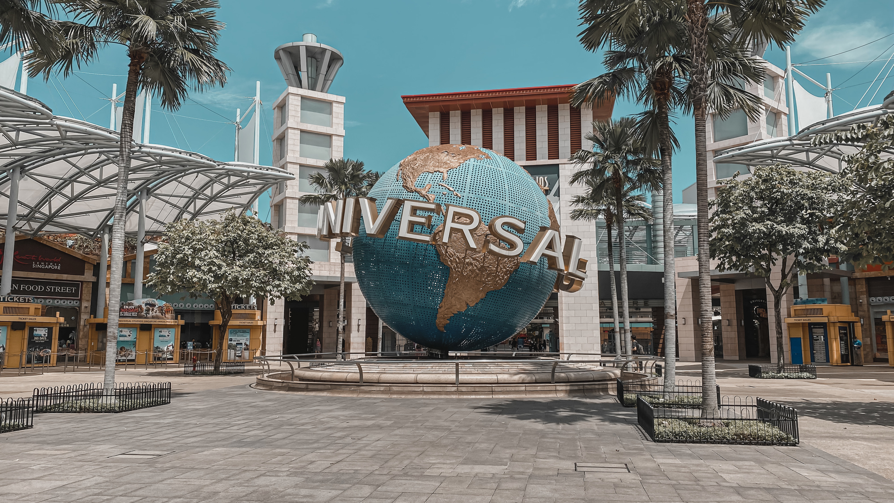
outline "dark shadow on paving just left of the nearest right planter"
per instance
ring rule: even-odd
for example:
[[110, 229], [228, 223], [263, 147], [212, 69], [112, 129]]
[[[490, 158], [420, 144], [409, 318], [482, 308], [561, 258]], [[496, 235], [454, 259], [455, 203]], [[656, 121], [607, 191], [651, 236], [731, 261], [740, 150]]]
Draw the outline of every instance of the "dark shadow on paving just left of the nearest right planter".
[[636, 421], [636, 410], [624, 409], [613, 398], [592, 399], [515, 399], [473, 407], [487, 415], [502, 415], [520, 421], [543, 424], [575, 424], [584, 421], [628, 423]]

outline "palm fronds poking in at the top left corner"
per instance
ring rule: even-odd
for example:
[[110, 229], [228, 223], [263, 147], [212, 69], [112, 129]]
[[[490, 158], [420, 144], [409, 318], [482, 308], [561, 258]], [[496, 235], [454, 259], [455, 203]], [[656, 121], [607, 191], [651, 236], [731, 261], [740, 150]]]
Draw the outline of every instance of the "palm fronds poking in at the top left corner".
[[58, 47], [61, 38], [53, 20], [36, 10], [51, 11], [52, 7], [42, 0], [0, 0], [0, 46], [12, 43], [17, 49]]

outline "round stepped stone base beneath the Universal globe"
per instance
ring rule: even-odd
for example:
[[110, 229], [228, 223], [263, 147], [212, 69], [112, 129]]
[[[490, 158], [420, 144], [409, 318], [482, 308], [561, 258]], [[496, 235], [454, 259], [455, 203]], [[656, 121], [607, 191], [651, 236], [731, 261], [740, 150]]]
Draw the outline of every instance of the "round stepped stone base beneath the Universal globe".
[[[457, 365], [460, 366], [459, 384]], [[257, 377], [259, 390], [298, 391], [339, 396], [522, 398], [608, 395], [618, 378], [637, 379], [616, 367], [531, 359], [500, 363], [475, 360], [423, 360], [386, 363], [360, 358], [321, 363]], [[359, 368], [358, 368], [359, 365]], [[362, 378], [361, 378], [362, 371]]]

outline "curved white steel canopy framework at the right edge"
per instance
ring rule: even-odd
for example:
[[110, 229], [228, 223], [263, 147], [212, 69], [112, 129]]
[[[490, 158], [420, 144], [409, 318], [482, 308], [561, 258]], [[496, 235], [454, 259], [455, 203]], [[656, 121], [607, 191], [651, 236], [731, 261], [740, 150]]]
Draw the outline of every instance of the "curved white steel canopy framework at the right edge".
[[[843, 167], [841, 158], [844, 155], [855, 154], [862, 145], [833, 143], [816, 146], [812, 145], [813, 138], [835, 131], [850, 130], [853, 125], [874, 122], [890, 113], [894, 113], [894, 93], [889, 94], [881, 105], [867, 106], [816, 122], [789, 138], [766, 139], [744, 147], [730, 148], [714, 156], [713, 161], [749, 166], [789, 163], [808, 169], [837, 173]], [[887, 154], [894, 156], [894, 150], [889, 150]]]

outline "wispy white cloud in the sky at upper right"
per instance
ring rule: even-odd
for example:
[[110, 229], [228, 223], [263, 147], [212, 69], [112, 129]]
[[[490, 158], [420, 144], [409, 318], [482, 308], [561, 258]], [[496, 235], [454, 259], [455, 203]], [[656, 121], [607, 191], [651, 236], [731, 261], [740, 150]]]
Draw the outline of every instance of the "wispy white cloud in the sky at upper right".
[[[884, 37], [888, 33], [888, 31], [877, 26], [875, 21], [824, 25], [813, 29], [808, 27], [792, 48], [801, 54], [809, 54], [811, 56], [810, 59], [822, 58], [847, 51], [851, 47], [863, 46], [876, 38]], [[894, 42], [894, 39], [885, 38], [874, 44], [828, 58], [823, 63], [872, 60], [878, 57], [881, 50], [890, 46], [892, 42]], [[885, 54], [886, 57], [888, 55]]]

